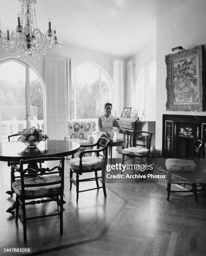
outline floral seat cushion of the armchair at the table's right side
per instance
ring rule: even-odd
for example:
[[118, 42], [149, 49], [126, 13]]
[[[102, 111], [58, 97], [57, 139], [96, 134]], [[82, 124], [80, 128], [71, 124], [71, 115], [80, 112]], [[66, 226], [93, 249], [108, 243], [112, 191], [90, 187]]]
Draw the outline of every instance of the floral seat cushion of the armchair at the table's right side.
[[[77, 171], [79, 170], [80, 158], [73, 158], [69, 161], [70, 167]], [[99, 169], [102, 166], [102, 161], [98, 156], [86, 156], [82, 158], [82, 171]]]

